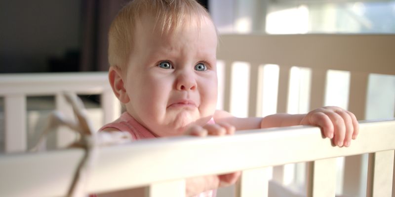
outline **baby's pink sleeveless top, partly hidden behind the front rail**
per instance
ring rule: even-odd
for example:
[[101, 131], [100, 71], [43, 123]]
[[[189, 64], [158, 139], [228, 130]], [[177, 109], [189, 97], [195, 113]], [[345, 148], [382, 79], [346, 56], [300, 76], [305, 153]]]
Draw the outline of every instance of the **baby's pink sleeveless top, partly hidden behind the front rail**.
[[[208, 121], [209, 124], [214, 124], [214, 120]], [[133, 140], [156, 138], [156, 136], [138, 123], [129, 113], [124, 112], [122, 115], [112, 123], [104, 125], [99, 131], [107, 128], [115, 128], [119, 131], [127, 131], [132, 134]], [[196, 195], [195, 197], [216, 197], [217, 190], [210, 190]]]

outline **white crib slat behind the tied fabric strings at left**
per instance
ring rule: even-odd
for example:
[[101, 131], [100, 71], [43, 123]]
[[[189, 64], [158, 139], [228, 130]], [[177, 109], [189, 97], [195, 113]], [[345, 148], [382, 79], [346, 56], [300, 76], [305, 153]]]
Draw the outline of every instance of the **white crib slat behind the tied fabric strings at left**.
[[[55, 96], [56, 110], [61, 112], [64, 117], [74, 119], [74, 113], [71, 106], [67, 103], [62, 93]], [[69, 128], [60, 127], [56, 132], [56, 146], [65, 147], [70, 143], [76, 141], [77, 134]]]

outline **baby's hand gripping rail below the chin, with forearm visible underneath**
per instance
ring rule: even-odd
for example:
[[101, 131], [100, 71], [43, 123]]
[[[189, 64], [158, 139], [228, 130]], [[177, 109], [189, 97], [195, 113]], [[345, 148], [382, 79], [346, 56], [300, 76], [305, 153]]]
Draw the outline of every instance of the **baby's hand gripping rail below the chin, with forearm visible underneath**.
[[[235, 127], [227, 123], [207, 124], [203, 127], [192, 126], [185, 134], [204, 137], [207, 135], [232, 135], [236, 131]], [[241, 172], [233, 172], [221, 175], [208, 175], [202, 177], [189, 178], [186, 181], [187, 196], [197, 195], [201, 192], [227, 187], [236, 183]]]

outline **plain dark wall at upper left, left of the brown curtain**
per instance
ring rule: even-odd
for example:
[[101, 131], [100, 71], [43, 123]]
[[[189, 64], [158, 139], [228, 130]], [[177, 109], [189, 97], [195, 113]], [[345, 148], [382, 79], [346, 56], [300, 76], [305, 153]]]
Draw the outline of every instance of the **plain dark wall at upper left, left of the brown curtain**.
[[81, 0], [1, 0], [0, 72], [45, 72], [78, 58]]

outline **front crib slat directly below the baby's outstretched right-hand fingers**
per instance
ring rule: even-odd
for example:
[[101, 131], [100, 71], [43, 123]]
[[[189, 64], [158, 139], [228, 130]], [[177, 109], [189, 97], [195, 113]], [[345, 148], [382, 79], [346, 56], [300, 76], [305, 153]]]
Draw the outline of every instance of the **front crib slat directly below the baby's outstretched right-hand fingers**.
[[336, 158], [309, 162], [308, 197], [334, 197], [336, 193]]

